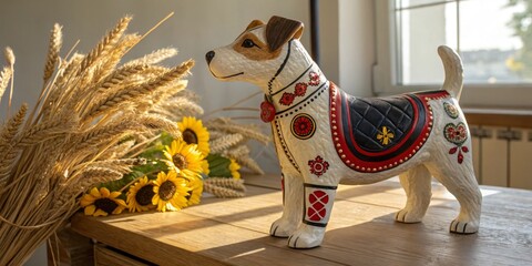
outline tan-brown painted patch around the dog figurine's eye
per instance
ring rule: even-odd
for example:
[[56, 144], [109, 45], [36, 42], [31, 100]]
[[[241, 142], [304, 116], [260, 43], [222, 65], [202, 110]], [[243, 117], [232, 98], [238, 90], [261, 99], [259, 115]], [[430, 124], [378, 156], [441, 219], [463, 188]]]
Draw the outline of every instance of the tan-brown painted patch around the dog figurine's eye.
[[279, 55], [280, 49], [272, 51], [268, 45], [258, 39], [252, 32], [245, 32], [236, 40], [233, 49], [244, 57], [255, 60], [270, 60]]

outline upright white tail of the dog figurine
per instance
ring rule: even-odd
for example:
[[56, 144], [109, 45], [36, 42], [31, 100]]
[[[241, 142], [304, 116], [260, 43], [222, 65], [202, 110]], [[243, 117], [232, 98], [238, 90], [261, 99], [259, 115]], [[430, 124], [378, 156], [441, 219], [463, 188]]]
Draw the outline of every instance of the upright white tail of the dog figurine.
[[446, 81], [442, 90], [448, 91], [458, 101], [463, 86], [462, 60], [457, 52], [446, 45], [438, 47], [438, 54], [446, 70]]

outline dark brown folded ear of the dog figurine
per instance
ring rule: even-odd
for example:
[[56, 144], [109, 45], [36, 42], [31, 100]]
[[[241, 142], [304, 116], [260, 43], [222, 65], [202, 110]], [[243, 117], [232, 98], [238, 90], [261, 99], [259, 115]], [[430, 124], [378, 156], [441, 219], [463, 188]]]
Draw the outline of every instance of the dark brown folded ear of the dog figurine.
[[270, 51], [279, 49], [291, 39], [303, 34], [303, 22], [274, 16], [266, 24], [266, 41]]

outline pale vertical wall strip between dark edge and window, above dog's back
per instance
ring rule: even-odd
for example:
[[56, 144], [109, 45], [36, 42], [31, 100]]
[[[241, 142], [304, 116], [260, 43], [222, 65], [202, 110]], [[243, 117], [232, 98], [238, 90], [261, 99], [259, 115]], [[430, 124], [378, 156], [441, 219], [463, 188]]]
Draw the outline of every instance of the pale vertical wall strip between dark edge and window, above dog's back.
[[356, 96], [371, 96], [376, 62], [375, 1], [320, 1], [321, 68]]

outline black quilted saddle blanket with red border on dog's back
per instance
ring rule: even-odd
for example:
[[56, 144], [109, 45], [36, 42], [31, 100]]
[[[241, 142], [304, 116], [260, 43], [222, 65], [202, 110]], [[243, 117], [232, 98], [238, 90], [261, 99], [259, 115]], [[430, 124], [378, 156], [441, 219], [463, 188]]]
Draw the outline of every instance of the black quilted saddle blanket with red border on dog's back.
[[419, 151], [431, 132], [428, 101], [449, 96], [447, 91], [432, 91], [361, 99], [331, 88], [337, 152], [350, 167], [369, 172], [395, 167]]

